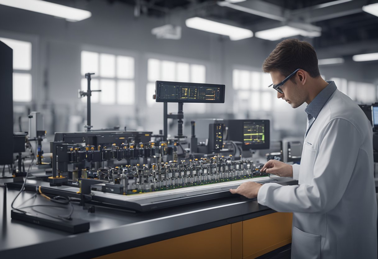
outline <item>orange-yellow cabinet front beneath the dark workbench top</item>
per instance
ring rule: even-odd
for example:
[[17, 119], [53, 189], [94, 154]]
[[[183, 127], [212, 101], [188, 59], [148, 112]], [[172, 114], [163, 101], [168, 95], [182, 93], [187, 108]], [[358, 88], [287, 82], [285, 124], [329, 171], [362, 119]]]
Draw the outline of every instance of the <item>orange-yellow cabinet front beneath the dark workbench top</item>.
[[291, 213], [272, 213], [96, 259], [252, 259], [291, 243]]

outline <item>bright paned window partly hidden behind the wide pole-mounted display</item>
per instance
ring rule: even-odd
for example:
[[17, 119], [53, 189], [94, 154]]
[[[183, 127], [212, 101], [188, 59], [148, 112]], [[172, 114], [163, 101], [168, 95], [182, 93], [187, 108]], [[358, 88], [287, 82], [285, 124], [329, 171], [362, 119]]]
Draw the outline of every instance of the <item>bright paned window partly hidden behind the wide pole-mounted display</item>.
[[[177, 81], [190, 83], [205, 83], [206, 82], [206, 67], [199, 64], [189, 64], [184, 62], [174, 62], [167, 60], [159, 60], [150, 58], [147, 61], [148, 83], [146, 100], [148, 106], [153, 106], [155, 100], [152, 95], [155, 94], [155, 81]], [[205, 103], [186, 103], [184, 105], [185, 111], [203, 111]]]

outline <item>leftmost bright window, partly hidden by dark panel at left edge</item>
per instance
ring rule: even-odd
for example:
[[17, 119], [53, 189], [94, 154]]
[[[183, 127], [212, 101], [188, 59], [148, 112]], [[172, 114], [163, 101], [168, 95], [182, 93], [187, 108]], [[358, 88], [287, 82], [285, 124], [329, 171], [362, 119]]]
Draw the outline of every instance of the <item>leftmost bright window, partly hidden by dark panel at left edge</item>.
[[31, 42], [0, 38], [13, 49], [13, 101], [31, 101]]

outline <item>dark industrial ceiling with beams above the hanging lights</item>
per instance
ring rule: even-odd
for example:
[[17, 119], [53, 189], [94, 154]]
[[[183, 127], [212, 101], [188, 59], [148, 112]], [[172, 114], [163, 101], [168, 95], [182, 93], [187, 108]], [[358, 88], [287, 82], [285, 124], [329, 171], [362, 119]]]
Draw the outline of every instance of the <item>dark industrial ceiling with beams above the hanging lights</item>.
[[[378, 2], [376, 0], [352, 0], [333, 6], [319, 8], [329, 0], [247, 0], [234, 5], [252, 9], [262, 9], [283, 17], [283, 21], [266, 18], [220, 6], [216, 0], [105, 0], [122, 2], [135, 7], [138, 16], [164, 17], [178, 11], [186, 11], [196, 16], [231, 22], [253, 31], [273, 28], [294, 21], [321, 27], [322, 36], [313, 40], [315, 47], [376, 41], [378, 40], [378, 17], [362, 11], [362, 6]], [[260, 11], [260, 10], [258, 10]], [[264, 17], [265, 16], [265, 17]], [[310, 19], [309, 19], [310, 17]]]

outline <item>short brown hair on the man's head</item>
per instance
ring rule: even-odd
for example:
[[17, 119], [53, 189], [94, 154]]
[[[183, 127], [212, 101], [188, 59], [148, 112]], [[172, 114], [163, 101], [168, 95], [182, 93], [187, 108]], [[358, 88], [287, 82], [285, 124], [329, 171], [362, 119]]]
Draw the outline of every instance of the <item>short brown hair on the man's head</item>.
[[311, 77], [320, 76], [318, 58], [313, 46], [306, 41], [285, 39], [265, 59], [262, 69], [265, 73], [279, 71], [288, 76], [296, 69], [303, 69]]

